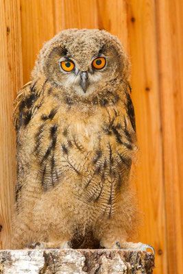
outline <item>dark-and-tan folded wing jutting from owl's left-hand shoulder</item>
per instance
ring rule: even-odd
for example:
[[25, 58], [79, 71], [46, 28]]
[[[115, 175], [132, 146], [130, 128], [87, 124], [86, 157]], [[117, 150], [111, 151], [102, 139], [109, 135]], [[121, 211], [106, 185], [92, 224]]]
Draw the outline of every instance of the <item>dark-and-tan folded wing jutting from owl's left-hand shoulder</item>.
[[23, 123], [26, 123], [26, 119], [31, 116], [31, 106], [34, 100], [34, 95], [31, 91], [32, 81], [28, 82], [21, 88], [15, 101], [14, 101], [14, 112], [13, 112], [13, 123], [16, 131], [19, 130]]

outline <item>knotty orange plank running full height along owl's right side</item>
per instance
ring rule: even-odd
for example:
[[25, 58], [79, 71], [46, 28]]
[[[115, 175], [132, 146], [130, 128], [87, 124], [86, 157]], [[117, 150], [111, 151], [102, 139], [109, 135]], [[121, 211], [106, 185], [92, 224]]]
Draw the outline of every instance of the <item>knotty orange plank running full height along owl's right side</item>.
[[158, 86], [158, 54], [154, 1], [127, 2], [132, 98], [140, 160], [136, 171], [138, 201], [144, 227], [138, 240], [155, 248], [154, 273], [167, 273], [167, 238], [162, 173], [162, 134]]

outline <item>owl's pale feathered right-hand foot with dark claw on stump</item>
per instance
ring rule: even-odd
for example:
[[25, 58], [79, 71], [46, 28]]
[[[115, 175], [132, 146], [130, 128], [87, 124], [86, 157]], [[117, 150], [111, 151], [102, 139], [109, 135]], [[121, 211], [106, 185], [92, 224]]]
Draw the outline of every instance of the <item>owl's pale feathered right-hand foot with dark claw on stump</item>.
[[101, 243], [101, 246], [105, 248], [111, 248], [111, 249], [126, 249], [126, 250], [136, 250], [136, 251], [147, 251], [147, 249], [151, 249], [153, 253], [155, 253], [154, 248], [151, 247], [151, 245], [143, 244], [142, 242], [114, 242], [112, 247], [105, 246], [105, 243]]

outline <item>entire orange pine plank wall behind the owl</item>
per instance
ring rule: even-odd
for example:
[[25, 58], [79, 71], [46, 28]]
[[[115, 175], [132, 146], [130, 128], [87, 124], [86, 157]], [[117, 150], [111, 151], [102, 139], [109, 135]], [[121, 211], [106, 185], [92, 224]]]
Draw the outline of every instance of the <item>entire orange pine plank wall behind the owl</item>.
[[154, 273], [182, 274], [182, 0], [0, 0], [0, 248], [8, 248], [16, 178], [12, 103], [42, 42], [62, 29], [117, 35], [132, 61], [140, 160], [135, 187], [156, 251]]

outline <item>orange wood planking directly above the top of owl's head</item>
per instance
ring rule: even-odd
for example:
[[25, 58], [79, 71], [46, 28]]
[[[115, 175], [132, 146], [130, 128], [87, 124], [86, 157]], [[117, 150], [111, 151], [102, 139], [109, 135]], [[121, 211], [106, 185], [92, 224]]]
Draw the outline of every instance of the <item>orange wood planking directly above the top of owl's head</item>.
[[127, 51], [125, 1], [55, 0], [56, 32], [69, 28], [105, 29], [116, 35]]

